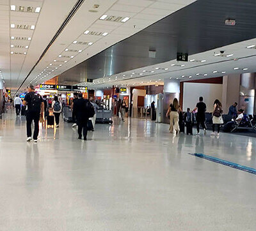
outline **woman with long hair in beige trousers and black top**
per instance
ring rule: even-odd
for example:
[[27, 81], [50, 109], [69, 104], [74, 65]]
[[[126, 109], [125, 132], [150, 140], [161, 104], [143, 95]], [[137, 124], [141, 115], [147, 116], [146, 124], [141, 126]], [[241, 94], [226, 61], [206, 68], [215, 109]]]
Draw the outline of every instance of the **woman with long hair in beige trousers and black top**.
[[173, 103], [170, 104], [166, 117], [170, 115], [170, 133], [173, 133], [173, 136], [179, 133], [179, 102], [177, 98], [174, 98]]

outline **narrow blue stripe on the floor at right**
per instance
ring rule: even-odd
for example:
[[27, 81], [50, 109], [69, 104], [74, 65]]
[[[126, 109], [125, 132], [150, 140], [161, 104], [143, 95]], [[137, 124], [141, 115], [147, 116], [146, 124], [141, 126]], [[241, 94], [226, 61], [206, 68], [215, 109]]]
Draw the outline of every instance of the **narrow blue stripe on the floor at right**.
[[251, 174], [256, 175], [256, 169], [255, 168], [250, 168], [250, 167], [246, 167], [246, 166], [243, 166], [243, 165], [238, 165], [237, 163], [233, 163], [233, 162], [230, 162], [230, 161], [227, 161], [227, 160], [221, 160], [219, 158], [216, 158], [216, 157], [213, 157], [213, 156], [207, 156], [205, 154], [200, 154], [200, 153], [189, 153], [189, 154], [192, 155], [192, 156], [196, 156], [196, 157], [199, 157], [199, 158], [203, 158], [205, 160], [213, 161], [215, 163], [220, 163], [221, 165], [226, 165], [228, 167], [236, 168], [236, 169], [242, 170], [244, 172], [249, 172]]

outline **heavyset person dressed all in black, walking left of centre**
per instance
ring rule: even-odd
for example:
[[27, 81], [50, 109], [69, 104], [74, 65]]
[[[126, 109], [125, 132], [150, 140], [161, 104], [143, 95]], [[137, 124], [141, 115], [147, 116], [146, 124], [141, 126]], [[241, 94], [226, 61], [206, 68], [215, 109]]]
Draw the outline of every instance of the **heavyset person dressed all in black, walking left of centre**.
[[78, 94], [78, 99], [74, 101], [73, 112], [76, 116], [78, 138], [82, 139], [82, 131], [84, 140], [87, 140], [87, 123], [88, 123], [88, 112], [87, 112], [88, 100], [84, 100], [83, 93]]

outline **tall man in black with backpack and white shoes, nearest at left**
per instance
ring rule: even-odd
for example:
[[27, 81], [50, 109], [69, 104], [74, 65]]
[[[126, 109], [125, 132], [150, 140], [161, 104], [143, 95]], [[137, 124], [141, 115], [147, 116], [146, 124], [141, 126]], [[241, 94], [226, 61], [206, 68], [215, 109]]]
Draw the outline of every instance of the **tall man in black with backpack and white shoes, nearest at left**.
[[39, 133], [39, 120], [40, 115], [44, 115], [44, 101], [42, 100], [42, 97], [39, 94], [35, 93], [35, 87], [33, 85], [30, 85], [28, 87], [28, 94], [26, 94], [23, 105], [28, 105], [28, 112], [26, 115], [27, 119], [27, 142], [30, 142], [32, 140], [32, 130], [31, 130], [31, 124], [34, 121], [35, 128], [34, 128], [34, 134], [33, 139], [34, 142], [37, 142], [37, 137]]

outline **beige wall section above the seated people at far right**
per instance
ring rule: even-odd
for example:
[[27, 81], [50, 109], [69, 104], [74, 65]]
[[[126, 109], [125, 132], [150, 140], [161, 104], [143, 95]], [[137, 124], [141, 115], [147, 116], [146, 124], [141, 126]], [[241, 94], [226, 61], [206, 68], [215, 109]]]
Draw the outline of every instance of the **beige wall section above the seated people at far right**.
[[[240, 75], [225, 75], [223, 76], [222, 89], [222, 105], [224, 114], [228, 113], [228, 108], [234, 102], [239, 103]], [[237, 109], [239, 105], [237, 106]]]

